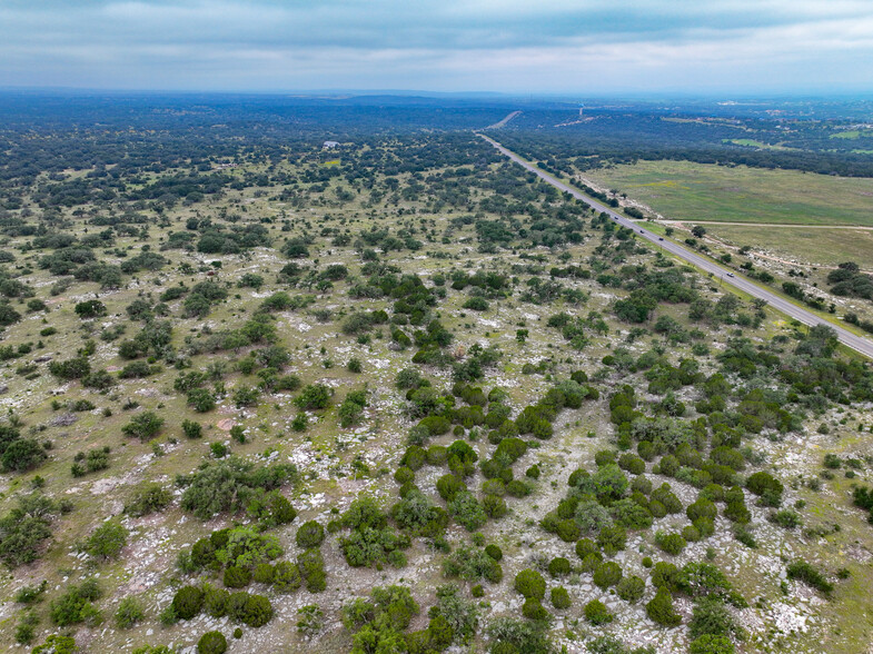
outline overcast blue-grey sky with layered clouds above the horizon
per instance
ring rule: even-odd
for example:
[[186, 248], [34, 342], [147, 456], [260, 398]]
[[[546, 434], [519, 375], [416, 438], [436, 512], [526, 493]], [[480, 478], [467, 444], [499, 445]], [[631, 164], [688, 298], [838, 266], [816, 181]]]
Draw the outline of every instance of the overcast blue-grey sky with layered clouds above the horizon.
[[873, 90], [871, 0], [0, 0], [0, 86]]

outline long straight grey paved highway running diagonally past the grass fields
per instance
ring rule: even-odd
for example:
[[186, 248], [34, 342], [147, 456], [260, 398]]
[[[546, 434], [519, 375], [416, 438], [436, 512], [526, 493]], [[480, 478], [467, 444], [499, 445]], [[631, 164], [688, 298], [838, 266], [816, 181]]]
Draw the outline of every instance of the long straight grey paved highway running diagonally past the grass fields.
[[597, 211], [605, 211], [618, 225], [623, 227], [627, 227], [628, 229], [633, 229], [638, 237], [652, 241], [657, 247], [671, 252], [672, 255], [679, 257], [681, 259], [685, 259], [686, 261], [688, 261], [693, 266], [696, 266], [701, 270], [711, 272], [713, 279], [718, 279], [720, 281], [730, 284], [731, 286], [738, 288], [740, 290], [751, 295], [752, 297], [757, 297], [763, 300], [766, 300], [767, 305], [770, 305], [771, 307], [773, 307], [778, 311], [782, 311], [790, 318], [794, 318], [795, 320], [798, 320], [810, 327], [815, 325], [825, 325], [830, 327], [831, 329], [836, 331], [836, 337], [840, 339], [840, 343], [873, 359], [873, 341], [866, 338], [862, 338], [861, 336], [856, 336], [855, 334], [852, 334], [847, 329], [844, 329], [837, 325], [834, 325], [833, 323], [830, 323], [829, 320], [820, 318], [815, 314], [807, 311], [803, 307], [798, 307], [797, 305], [790, 303], [785, 298], [780, 297], [778, 295], [771, 293], [767, 289], [757, 286], [756, 284], [753, 284], [752, 281], [750, 281], [744, 277], [741, 277], [736, 272], [727, 271], [726, 269], [722, 268], [714, 261], [711, 261], [710, 259], [706, 259], [697, 255], [696, 252], [693, 252], [682, 247], [681, 245], [673, 242], [672, 240], [667, 240], [665, 238], [659, 237], [656, 234], [648, 231], [644, 227], [641, 227], [639, 222], [635, 222], [628, 218], [625, 218], [624, 216], [619, 216], [618, 214], [609, 209], [609, 207], [606, 207], [588, 198], [587, 196], [584, 196], [577, 189], [567, 186], [566, 184], [555, 179], [544, 170], [540, 170], [536, 166], [528, 164], [527, 161], [522, 159], [518, 155], [516, 155], [512, 150], [507, 150], [494, 139], [488, 138], [482, 133], [479, 136], [485, 140], [487, 140], [488, 142], [490, 142], [495, 148], [497, 148], [500, 152], [509, 157], [509, 159], [512, 159], [519, 166], [523, 166], [524, 168], [535, 174], [544, 181], [547, 181], [558, 190], [571, 194], [574, 198], [576, 198], [577, 200], [582, 200], [583, 202], [585, 202], [589, 207], [593, 207]]

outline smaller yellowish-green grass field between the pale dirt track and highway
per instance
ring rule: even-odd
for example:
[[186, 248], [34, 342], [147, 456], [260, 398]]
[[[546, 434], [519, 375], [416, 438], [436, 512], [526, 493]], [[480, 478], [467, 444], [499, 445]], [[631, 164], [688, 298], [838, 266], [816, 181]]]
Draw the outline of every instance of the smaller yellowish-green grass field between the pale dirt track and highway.
[[757, 251], [766, 250], [780, 258], [800, 259], [814, 266], [857, 261], [865, 268], [873, 267], [873, 231], [869, 229], [713, 225], [706, 230], [738, 247], [752, 245]]

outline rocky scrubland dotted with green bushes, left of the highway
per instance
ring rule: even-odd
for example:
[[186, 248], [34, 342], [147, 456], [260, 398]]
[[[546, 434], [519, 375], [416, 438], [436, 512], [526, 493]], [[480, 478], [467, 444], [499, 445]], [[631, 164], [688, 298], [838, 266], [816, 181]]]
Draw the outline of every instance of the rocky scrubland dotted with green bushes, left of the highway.
[[163, 127], [4, 135], [10, 648], [869, 647], [826, 328], [472, 133]]

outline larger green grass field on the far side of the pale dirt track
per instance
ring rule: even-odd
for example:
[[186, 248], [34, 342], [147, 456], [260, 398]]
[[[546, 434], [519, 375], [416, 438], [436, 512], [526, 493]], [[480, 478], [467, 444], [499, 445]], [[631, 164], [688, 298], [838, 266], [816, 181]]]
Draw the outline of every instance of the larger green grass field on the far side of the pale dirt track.
[[867, 178], [687, 161], [641, 161], [586, 176], [676, 220], [873, 225]]

